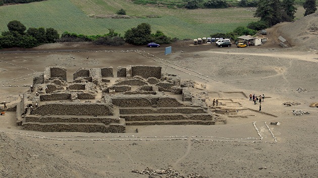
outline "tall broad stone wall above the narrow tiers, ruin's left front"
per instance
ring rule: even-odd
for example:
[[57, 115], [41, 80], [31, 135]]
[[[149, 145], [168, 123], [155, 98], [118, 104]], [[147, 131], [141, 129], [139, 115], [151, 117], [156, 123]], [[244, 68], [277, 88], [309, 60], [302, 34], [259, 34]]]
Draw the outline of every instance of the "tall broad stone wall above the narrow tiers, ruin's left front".
[[49, 103], [40, 105], [33, 111], [34, 115], [86, 115], [111, 116], [113, 105], [105, 103]]

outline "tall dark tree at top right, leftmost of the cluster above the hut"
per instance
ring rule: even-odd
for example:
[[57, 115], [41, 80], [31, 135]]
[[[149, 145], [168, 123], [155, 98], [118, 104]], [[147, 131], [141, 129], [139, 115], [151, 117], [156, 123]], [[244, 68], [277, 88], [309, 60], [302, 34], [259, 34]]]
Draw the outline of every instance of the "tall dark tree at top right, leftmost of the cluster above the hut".
[[282, 11], [279, 0], [259, 0], [254, 17], [273, 26], [281, 21]]

